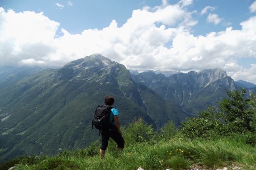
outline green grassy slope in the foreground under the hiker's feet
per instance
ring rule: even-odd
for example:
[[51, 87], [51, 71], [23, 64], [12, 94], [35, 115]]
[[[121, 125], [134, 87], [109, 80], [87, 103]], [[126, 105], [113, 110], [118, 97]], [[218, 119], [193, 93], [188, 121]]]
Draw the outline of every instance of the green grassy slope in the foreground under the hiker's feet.
[[[235, 164], [244, 170], [255, 170], [256, 147], [232, 138], [215, 140], [172, 139], [155, 145], [146, 143], [133, 145], [123, 151], [106, 151], [104, 159], [99, 157], [99, 147], [64, 151], [54, 157], [26, 157], [21, 161], [9, 161], [2, 170], [16, 166], [16, 170], [182, 170], [197, 164], [204, 169], [217, 169]], [[16, 158], [18, 159], [18, 158]], [[232, 169], [232, 168], [231, 168]]]

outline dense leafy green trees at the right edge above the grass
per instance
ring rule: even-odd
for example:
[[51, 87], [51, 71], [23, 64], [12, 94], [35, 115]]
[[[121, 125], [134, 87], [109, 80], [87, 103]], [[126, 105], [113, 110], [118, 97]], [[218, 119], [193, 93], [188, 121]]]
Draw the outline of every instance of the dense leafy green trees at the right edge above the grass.
[[246, 90], [241, 92], [226, 90], [229, 98], [217, 102], [219, 107], [209, 106], [182, 122], [181, 130], [188, 138], [208, 137], [210, 135], [228, 135], [256, 131], [256, 99], [253, 93], [243, 98]]

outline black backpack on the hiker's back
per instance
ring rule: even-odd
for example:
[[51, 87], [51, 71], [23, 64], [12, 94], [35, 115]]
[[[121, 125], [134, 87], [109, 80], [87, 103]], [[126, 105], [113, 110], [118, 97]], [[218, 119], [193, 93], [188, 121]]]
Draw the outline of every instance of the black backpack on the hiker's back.
[[114, 119], [111, 123], [109, 122], [112, 108], [108, 105], [99, 105], [97, 107], [94, 112], [94, 118], [92, 119], [92, 129], [93, 125], [99, 130], [111, 129], [111, 124], [114, 122]]

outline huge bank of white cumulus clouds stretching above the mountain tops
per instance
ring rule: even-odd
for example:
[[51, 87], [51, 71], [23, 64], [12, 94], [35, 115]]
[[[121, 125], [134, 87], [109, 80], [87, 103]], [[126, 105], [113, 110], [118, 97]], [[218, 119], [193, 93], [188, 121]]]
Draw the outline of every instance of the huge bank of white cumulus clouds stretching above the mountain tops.
[[240, 23], [240, 30], [228, 27], [194, 36], [190, 28], [197, 21], [192, 17], [194, 12], [186, 8], [191, 2], [170, 5], [163, 1], [161, 6], [134, 10], [121, 27], [113, 20], [102, 30], [86, 29], [76, 35], [62, 28], [60, 37], [55, 36], [60, 24], [42, 12], [15, 13], [0, 8], [0, 64], [63, 66], [100, 53], [138, 71], [188, 72], [219, 67], [232, 78], [255, 84], [256, 63], [243, 69], [236, 59], [256, 58], [256, 16]]

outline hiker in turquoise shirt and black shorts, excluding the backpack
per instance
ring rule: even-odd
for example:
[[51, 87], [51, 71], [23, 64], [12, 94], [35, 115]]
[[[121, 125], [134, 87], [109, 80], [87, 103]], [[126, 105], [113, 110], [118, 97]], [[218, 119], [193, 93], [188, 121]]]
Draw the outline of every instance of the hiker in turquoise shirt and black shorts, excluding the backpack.
[[[114, 104], [114, 98], [112, 96], [107, 96], [105, 98], [105, 105], [112, 107]], [[110, 129], [100, 130], [101, 134], [101, 147], [100, 147], [100, 158], [104, 158], [105, 150], [108, 147], [108, 140], [111, 137], [117, 143], [117, 150], [124, 149], [124, 139], [122, 137], [122, 132], [120, 131], [120, 124], [118, 121], [118, 111], [115, 108], [111, 109], [110, 113]]]

